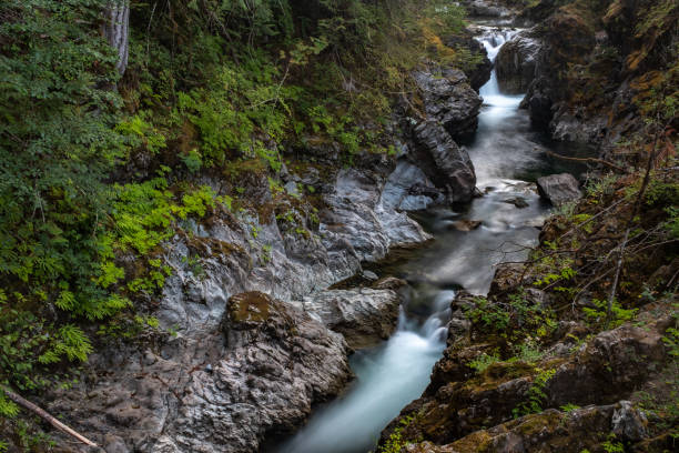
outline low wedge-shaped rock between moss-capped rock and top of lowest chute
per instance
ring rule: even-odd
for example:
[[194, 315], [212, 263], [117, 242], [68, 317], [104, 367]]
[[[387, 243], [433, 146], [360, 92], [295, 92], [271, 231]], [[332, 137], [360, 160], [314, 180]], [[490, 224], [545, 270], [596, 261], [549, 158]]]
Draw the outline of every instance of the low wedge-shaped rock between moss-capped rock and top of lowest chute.
[[323, 291], [294, 304], [359, 349], [386, 340], [394, 332], [401, 296], [391, 289], [363, 288]]

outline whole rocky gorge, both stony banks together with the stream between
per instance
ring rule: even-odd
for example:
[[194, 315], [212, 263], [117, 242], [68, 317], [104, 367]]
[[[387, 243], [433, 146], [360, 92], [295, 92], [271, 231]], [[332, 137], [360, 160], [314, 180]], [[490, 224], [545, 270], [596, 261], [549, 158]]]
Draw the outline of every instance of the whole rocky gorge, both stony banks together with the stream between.
[[347, 164], [308, 134], [274, 179], [199, 177], [243, 201], [159, 249], [158, 330], [101, 344], [41, 396], [98, 445], [53, 432], [53, 451], [676, 447], [677, 173], [651, 200], [614, 157], [643, 131], [632, 99], [660, 85], [679, 9], [460, 3], [472, 26], [449, 48], [484, 60], [409, 73], [418, 103], [395, 102], [393, 152]]

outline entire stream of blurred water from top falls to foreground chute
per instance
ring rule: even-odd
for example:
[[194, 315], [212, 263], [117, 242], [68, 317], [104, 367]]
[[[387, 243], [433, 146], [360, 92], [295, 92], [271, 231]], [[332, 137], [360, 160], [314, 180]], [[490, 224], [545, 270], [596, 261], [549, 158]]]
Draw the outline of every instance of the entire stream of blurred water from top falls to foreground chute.
[[[514, 31], [488, 31], [482, 42], [490, 59]], [[434, 233], [432, 246], [397, 269], [413, 291], [396, 333], [383, 345], [352, 358], [356, 382], [346, 394], [318, 410], [278, 453], [366, 453], [401, 409], [418, 397], [445, 349], [449, 303], [460, 288], [487, 293], [495, 265], [523, 259], [537, 242], [545, 204], [526, 181], [550, 172], [545, 144], [530, 129], [520, 95], [499, 92], [495, 71], [480, 90], [484, 107], [476, 138], [467, 143], [485, 197], [465, 212], [436, 210], [418, 220]], [[519, 208], [521, 207], [521, 208]], [[459, 220], [480, 221], [470, 232]]]

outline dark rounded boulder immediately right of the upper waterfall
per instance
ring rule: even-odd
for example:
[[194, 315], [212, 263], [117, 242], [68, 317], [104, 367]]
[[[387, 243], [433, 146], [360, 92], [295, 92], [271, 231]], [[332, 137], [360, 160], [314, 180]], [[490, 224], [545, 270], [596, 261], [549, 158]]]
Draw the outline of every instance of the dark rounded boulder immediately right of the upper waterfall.
[[507, 94], [525, 93], [535, 79], [539, 40], [530, 31], [521, 31], [505, 43], [495, 59], [497, 82]]

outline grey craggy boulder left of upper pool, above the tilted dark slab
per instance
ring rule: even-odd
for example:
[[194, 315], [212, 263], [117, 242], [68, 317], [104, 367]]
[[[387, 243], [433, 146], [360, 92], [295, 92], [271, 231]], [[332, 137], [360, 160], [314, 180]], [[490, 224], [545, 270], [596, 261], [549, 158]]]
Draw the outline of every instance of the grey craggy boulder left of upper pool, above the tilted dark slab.
[[440, 74], [417, 71], [413, 78], [423, 92], [427, 120], [443, 124], [454, 139], [476, 131], [483, 100], [469, 87], [464, 72], [457, 69], [443, 69]]

